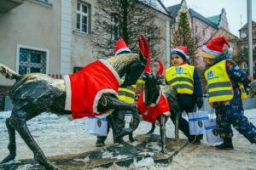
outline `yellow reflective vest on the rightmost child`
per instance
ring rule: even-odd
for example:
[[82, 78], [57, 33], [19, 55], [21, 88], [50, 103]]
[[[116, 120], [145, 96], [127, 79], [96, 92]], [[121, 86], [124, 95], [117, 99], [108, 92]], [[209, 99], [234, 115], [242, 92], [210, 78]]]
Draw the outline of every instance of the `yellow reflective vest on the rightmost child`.
[[[230, 76], [226, 71], [226, 60], [212, 65], [205, 72], [210, 104], [218, 101], [229, 101], [234, 98], [234, 89], [230, 81]], [[239, 89], [241, 90], [241, 99], [247, 99], [247, 94], [241, 83], [239, 83]]]

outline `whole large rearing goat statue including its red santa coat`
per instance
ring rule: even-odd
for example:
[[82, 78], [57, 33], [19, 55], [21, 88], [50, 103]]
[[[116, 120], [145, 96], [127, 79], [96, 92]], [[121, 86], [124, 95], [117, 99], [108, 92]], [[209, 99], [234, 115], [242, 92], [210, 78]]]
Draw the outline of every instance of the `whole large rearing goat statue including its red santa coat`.
[[[15, 79], [10, 89], [10, 97], [14, 104], [11, 116], [6, 119], [9, 133], [9, 156], [1, 163], [11, 161], [16, 156], [15, 131], [32, 150], [34, 159], [48, 169], [58, 169], [44, 156], [43, 150], [33, 139], [26, 126], [26, 121], [47, 111], [58, 115], [70, 115], [73, 118], [84, 116], [107, 116], [113, 128], [114, 138], [128, 135], [139, 124], [136, 105], [120, 101], [117, 91], [121, 84], [120, 78], [125, 74], [123, 87], [137, 82], [143, 74], [149, 55], [148, 42], [143, 35], [143, 44], [140, 41], [141, 54], [120, 54], [108, 59], [99, 59], [83, 69], [57, 80], [44, 74], [30, 73], [19, 75], [7, 66], [0, 64], [0, 72], [9, 79]], [[139, 39], [139, 38], [138, 38]], [[131, 111], [133, 122], [130, 128], [125, 128], [117, 134], [111, 111], [122, 109]], [[86, 142], [86, 141], [84, 141]]]

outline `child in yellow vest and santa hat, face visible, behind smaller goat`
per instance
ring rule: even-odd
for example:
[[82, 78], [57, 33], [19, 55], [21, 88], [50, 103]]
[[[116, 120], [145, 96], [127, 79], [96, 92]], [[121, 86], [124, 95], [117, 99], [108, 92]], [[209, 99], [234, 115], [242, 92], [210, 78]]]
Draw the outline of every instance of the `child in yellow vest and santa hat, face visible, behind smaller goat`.
[[[179, 46], [171, 51], [172, 66], [166, 70], [166, 83], [177, 91], [177, 100], [182, 111], [187, 114], [195, 111], [195, 105], [201, 109], [203, 105], [203, 94], [201, 79], [195, 66], [189, 65], [187, 48]], [[175, 116], [171, 116], [175, 122]], [[189, 122], [181, 115], [179, 117], [178, 128], [188, 137], [191, 144], [201, 144], [202, 135], [195, 136], [189, 134]]]

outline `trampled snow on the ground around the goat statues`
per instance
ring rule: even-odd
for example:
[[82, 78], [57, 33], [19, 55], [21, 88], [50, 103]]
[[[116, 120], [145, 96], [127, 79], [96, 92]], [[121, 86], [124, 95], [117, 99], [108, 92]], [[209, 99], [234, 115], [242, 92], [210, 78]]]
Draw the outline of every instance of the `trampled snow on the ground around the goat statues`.
[[[9, 154], [7, 145], [9, 135], [5, 127], [5, 119], [10, 116], [10, 111], [0, 112], [0, 161]], [[245, 111], [245, 116], [256, 124], [256, 109]], [[126, 117], [129, 119], [129, 116]], [[56, 116], [43, 113], [27, 122], [27, 126], [34, 139], [44, 150], [46, 156], [76, 154], [88, 150], [95, 150], [96, 136], [86, 133], [86, 119], [79, 119], [73, 122], [67, 120], [67, 116]], [[151, 125], [148, 122], [141, 122], [137, 134], [147, 133]], [[159, 134], [159, 127], [154, 133]], [[166, 125], [167, 137], [174, 137], [174, 126], [168, 121]], [[180, 132], [180, 138], [185, 139]], [[125, 140], [128, 140], [125, 137]], [[207, 144], [204, 139], [200, 145], [189, 145], [183, 149], [169, 165], [154, 164], [152, 158], [134, 162], [131, 167], [112, 166], [110, 169], [256, 169], [256, 145], [250, 144], [241, 134], [234, 130], [235, 150], [215, 150]], [[16, 133], [17, 156], [16, 160], [32, 158], [32, 151], [20, 139]], [[106, 144], [112, 144], [112, 134], [108, 136]], [[103, 169], [103, 168], [99, 168]]]

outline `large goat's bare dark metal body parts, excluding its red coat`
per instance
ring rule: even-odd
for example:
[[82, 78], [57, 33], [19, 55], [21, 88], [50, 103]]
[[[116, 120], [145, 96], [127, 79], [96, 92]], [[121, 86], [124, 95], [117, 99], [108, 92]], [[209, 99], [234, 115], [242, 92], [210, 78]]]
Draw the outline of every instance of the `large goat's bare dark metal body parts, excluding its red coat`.
[[[143, 44], [140, 42], [141, 54], [120, 54], [107, 59], [109, 65], [119, 74], [119, 77], [125, 76], [124, 86], [129, 86], [137, 82], [145, 68], [148, 56], [148, 43], [143, 38]], [[15, 131], [26, 142], [32, 150], [34, 159], [46, 169], [58, 169], [44, 156], [43, 150], [33, 139], [29, 129], [26, 127], [26, 121], [47, 111], [58, 115], [71, 114], [71, 111], [65, 111], [66, 87], [64, 80], [54, 79], [44, 74], [30, 73], [19, 75], [10, 70], [7, 66], [0, 64], [0, 73], [6, 78], [15, 79], [14, 86], [10, 89], [10, 97], [14, 104], [11, 116], [6, 119], [6, 126], [9, 133], [9, 156], [6, 156], [1, 163], [11, 161], [16, 156]], [[114, 137], [127, 135], [134, 131], [139, 123], [138, 111], [136, 105], [131, 105], [120, 101], [113, 94], [102, 94], [97, 105], [97, 110], [105, 112], [111, 109], [122, 109], [131, 111], [133, 122], [131, 127], [124, 129], [121, 133], [116, 133], [114, 120], [111, 115], [107, 117], [108, 122], [113, 128]], [[85, 142], [85, 141], [84, 141]]]

